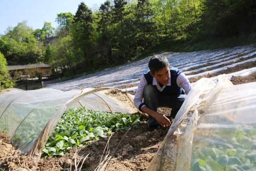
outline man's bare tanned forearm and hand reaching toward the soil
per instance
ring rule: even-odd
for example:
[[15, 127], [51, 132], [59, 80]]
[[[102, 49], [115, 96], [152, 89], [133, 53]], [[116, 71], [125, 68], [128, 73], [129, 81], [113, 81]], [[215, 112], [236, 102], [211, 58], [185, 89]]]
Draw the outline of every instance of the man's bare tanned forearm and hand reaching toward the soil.
[[141, 110], [142, 112], [149, 114], [150, 116], [155, 118], [162, 127], [168, 127], [171, 125], [171, 121], [165, 115], [159, 114], [156, 111], [151, 110], [147, 106], [144, 106]]

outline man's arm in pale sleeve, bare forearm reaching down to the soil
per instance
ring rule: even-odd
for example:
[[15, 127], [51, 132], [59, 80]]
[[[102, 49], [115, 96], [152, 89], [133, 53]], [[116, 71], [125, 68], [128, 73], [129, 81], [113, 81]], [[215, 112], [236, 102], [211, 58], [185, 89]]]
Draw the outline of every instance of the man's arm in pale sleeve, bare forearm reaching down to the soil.
[[[152, 116], [153, 118], [155, 118], [157, 120], [157, 122], [165, 127], [165, 126], [170, 126], [171, 122], [170, 120], [162, 115], [162, 114], [159, 114], [157, 113], [156, 111], [154, 110], [151, 110], [150, 108], [148, 108], [143, 102], [142, 102], [142, 99], [143, 99], [143, 91], [144, 91], [144, 87], [147, 85], [147, 81], [144, 77], [144, 75], [141, 76], [141, 80], [139, 82], [139, 86], [138, 86], [138, 89], [137, 89], [137, 92], [134, 96], [134, 106], [136, 108], [138, 108], [141, 112], [144, 112], [150, 116]], [[157, 98], [157, 97], [156, 97]]]

